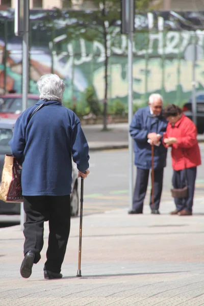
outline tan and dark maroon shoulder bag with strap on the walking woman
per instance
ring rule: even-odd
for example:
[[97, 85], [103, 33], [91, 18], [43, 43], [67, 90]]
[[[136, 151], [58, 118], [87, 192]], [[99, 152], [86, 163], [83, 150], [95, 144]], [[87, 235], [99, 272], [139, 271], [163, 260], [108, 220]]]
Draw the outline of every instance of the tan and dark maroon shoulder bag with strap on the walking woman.
[[[44, 104], [45, 103], [40, 104], [35, 109], [30, 119], [44, 106]], [[5, 202], [22, 202], [21, 172], [22, 165], [17, 159], [12, 154], [6, 154], [2, 171], [2, 182], [0, 185], [0, 200]]]

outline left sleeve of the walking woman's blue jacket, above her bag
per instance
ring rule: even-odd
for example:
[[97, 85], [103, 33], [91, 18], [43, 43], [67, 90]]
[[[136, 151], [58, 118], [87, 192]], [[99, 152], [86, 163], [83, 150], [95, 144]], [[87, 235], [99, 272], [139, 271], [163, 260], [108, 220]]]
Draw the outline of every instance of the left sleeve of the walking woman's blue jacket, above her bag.
[[23, 152], [25, 148], [25, 129], [26, 124], [23, 123], [23, 117], [19, 116], [16, 120], [13, 137], [9, 142], [13, 156], [20, 162], [23, 160]]

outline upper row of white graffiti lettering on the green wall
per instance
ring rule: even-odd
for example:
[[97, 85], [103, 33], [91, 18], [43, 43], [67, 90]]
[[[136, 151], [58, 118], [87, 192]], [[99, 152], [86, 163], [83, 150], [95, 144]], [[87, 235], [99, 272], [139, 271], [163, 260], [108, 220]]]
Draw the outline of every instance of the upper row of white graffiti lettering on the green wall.
[[[110, 57], [111, 55], [126, 55], [127, 54], [127, 37], [125, 35], [118, 35], [120, 33], [120, 29], [116, 28], [113, 30], [112, 34], [107, 35], [107, 55]], [[203, 39], [204, 39], [204, 31], [197, 30], [195, 33], [191, 31], [186, 32], [158, 32], [158, 33], [149, 33], [148, 38], [146, 41], [142, 41], [142, 45], [137, 46], [136, 41], [133, 44], [133, 53], [135, 55], [145, 55], [157, 53], [158, 56], [163, 54], [182, 54], [185, 52], [186, 47], [192, 40], [192, 36], [197, 36], [197, 43], [200, 46], [203, 46]], [[61, 35], [54, 39], [55, 43], [66, 43], [67, 36]], [[114, 44], [115, 41], [115, 44]], [[75, 50], [75, 42], [69, 42], [67, 44], [67, 51], [68, 53], [65, 54], [64, 52], [61, 55], [57, 54], [55, 56], [58, 57], [58, 60], [63, 58], [65, 55], [72, 57], [74, 56], [74, 65], [81, 65], [83, 63], [87, 63], [92, 61], [95, 58], [97, 63], [101, 63], [105, 61], [105, 46], [100, 41], [93, 41], [92, 42], [92, 52], [87, 54], [87, 44], [83, 38], [79, 40], [79, 50], [77, 50], [77, 56], [74, 56]], [[53, 49], [53, 43], [49, 43], [49, 48]], [[94, 55], [97, 55], [94, 57]], [[72, 61], [72, 59], [69, 59]], [[68, 61], [69, 61], [68, 60]]]

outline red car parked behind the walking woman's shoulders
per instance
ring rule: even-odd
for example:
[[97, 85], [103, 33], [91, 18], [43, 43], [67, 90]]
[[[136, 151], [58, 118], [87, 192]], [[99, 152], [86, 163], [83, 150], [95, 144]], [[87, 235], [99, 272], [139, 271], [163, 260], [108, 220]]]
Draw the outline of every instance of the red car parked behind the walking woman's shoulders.
[[[28, 105], [35, 105], [39, 100], [39, 95], [28, 94]], [[22, 94], [9, 93], [0, 96], [0, 118], [17, 119], [22, 113]]]

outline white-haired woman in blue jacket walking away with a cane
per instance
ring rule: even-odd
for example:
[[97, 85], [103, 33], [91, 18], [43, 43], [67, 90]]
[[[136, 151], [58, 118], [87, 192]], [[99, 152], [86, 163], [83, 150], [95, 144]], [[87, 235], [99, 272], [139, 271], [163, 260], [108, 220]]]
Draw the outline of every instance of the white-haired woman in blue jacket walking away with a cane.
[[18, 117], [10, 141], [13, 155], [22, 163], [23, 207], [27, 214], [20, 273], [30, 277], [33, 264], [39, 262], [44, 221], [48, 220], [44, 278], [61, 278], [70, 231], [72, 158], [79, 177], [87, 177], [89, 148], [79, 118], [62, 106], [63, 80], [56, 74], [43, 75], [38, 89], [39, 102]]

